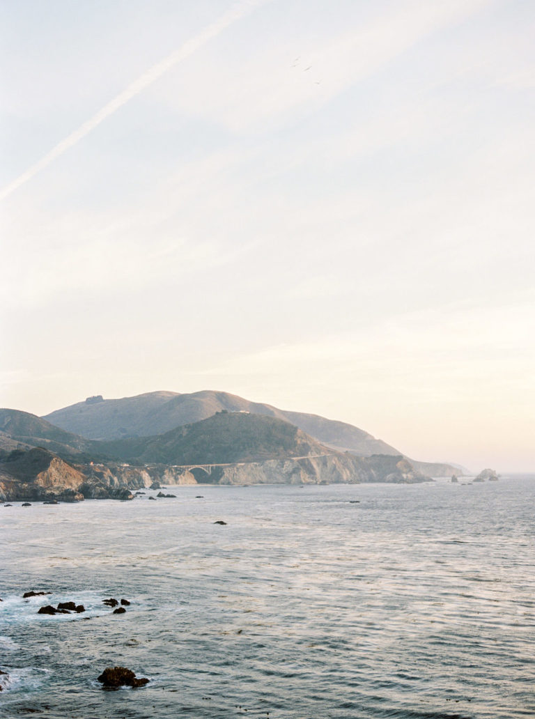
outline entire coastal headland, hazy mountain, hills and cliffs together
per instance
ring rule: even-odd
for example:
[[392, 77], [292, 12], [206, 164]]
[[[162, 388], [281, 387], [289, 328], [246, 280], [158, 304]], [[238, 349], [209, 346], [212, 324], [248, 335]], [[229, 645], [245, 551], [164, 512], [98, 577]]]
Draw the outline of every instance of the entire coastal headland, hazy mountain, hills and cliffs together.
[[347, 423], [224, 392], [87, 398], [40, 418], [0, 410], [0, 498], [132, 498], [155, 483], [424, 482], [416, 462]]

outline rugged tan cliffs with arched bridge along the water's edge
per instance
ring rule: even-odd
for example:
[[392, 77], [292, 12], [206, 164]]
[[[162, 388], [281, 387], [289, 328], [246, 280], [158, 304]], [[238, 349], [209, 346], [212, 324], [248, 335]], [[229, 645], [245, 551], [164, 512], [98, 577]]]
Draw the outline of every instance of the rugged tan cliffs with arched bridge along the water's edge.
[[42, 447], [17, 449], [0, 462], [0, 501], [80, 502], [132, 500], [136, 490], [161, 485], [412, 483], [429, 480], [403, 457], [346, 452], [296, 459], [266, 459], [216, 465], [209, 473], [168, 464], [133, 466], [117, 462], [69, 464]]

